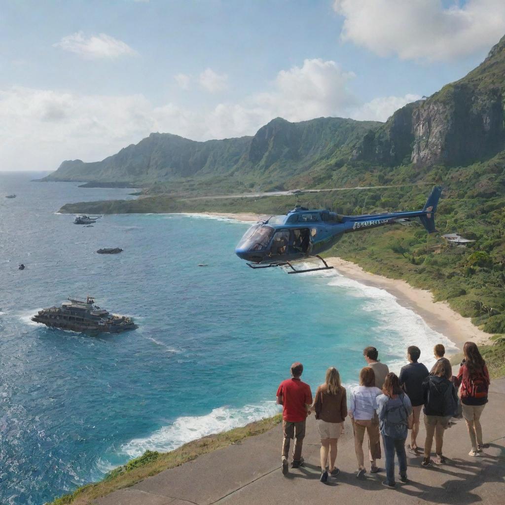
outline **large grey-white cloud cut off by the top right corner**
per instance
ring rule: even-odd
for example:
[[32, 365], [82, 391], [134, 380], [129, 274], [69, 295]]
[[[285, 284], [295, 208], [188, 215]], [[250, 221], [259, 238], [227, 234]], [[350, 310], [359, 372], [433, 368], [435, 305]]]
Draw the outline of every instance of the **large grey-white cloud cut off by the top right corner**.
[[505, 33], [503, 0], [334, 0], [341, 39], [379, 56], [443, 61], [475, 54]]

